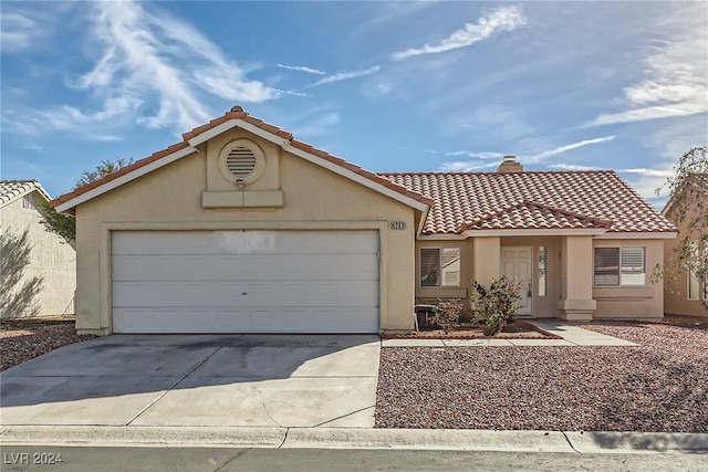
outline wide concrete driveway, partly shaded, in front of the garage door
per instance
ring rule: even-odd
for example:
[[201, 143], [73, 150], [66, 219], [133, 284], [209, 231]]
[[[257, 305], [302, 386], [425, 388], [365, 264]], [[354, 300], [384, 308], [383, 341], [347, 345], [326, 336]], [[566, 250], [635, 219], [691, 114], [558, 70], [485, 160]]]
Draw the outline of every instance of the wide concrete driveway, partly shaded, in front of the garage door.
[[377, 336], [113, 335], [0, 374], [11, 424], [373, 428]]

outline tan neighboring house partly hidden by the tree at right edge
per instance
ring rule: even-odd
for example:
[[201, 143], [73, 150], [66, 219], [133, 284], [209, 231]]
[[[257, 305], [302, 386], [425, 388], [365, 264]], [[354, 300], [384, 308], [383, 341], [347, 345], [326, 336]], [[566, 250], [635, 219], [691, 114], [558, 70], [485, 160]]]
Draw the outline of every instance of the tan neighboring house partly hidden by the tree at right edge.
[[[678, 225], [678, 238], [667, 241], [664, 248], [666, 260], [671, 256], [674, 249], [683, 242], [684, 238], [688, 238], [687, 241], [695, 244], [696, 254], [700, 254], [701, 251], [698, 241], [689, 237], [688, 224], [701, 214], [697, 199], [701, 200], [700, 203], [704, 204], [702, 214], [705, 214], [705, 204], [708, 201], [708, 175], [695, 174], [691, 177], [685, 185], [693, 186], [694, 192], [678, 195], [678, 192], [685, 191], [685, 187], [681, 186], [677, 195], [662, 210], [663, 216]], [[686, 201], [678, 202], [677, 198], [686, 199]], [[685, 212], [685, 214], [679, 222], [680, 212]], [[693, 237], [698, 238], [699, 234], [695, 233]], [[704, 258], [708, 256], [708, 253], [706, 253], [708, 248], [704, 248], [702, 251]], [[680, 271], [677, 276], [669, 277], [664, 284], [664, 312], [668, 315], [708, 316], [708, 280], [701, 280], [693, 271]]]

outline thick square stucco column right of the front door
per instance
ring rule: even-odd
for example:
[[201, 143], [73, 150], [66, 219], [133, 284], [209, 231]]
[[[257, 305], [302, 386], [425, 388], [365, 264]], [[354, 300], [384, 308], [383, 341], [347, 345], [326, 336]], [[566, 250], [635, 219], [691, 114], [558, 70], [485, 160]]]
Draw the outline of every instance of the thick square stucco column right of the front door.
[[563, 319], [592, 319], [597, 304], [593, 300], [593, 238], [563, 237], [561, 242], [561, 300]]

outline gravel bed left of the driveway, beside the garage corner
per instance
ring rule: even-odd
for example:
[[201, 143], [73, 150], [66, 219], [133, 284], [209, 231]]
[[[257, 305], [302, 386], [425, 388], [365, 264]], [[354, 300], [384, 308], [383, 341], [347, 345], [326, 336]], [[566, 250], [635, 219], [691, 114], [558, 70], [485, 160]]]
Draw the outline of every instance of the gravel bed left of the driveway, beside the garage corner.
[[92, 337], [77, 336], [73, 319], [3, 319], [0, 323], [0, 370]]

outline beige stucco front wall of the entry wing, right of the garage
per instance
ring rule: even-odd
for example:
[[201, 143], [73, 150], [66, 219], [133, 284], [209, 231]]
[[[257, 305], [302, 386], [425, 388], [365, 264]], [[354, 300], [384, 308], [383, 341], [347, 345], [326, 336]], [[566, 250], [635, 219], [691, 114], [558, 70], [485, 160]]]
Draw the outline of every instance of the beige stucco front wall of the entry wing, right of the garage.
[[[423, 302], [437, 298], [468, 300], [472, 282], [489, 283], [500, 276], [500, 249], [503, 247], [531, 247], [534, 317], [563, 317], [568, 319], [592, 318], [659, 318], [663, 316], [662, 285], [650, 283], [650, 272], [663, 258], [664, 240], [605, 240], [592, 235], [544, 237], [489, 237], [466, 240], [431, 240], [416, 243], [420, 248], [460, 248], [460, 286], [421, 287], [420, 268], [416, 262], [416, 297]], [[539, 248], [548, 248], [548, 292], [540, 296]], [[593, 248], [645, 247], [646, 284], [638, 287], [594, 287]], [[469, 304], [466, 303], [469, 311]]]

